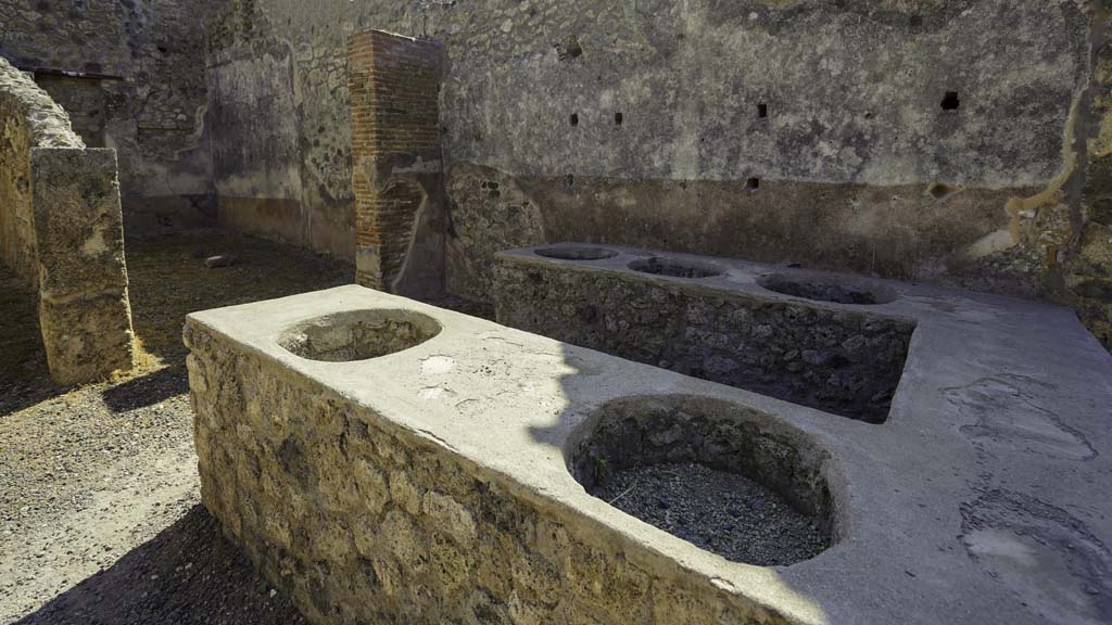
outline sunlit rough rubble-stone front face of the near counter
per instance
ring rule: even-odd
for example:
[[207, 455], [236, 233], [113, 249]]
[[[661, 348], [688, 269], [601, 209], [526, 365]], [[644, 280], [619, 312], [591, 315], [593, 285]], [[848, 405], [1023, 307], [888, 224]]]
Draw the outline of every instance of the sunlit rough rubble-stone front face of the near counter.
[[787, 622], [203, 327], [185, 336], [205, 506], [310, 623]]

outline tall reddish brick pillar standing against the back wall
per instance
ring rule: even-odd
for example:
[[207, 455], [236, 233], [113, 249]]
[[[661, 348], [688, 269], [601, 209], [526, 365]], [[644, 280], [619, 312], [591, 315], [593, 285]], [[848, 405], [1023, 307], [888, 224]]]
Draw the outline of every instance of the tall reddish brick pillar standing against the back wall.
[[[440, 47], [378, 30], [348, 39], [356, 281], [397, 291], [443, 185]], [[424, 274], [427, 275], [427, 271]], [[405, 290], [405, 289], [401, 289]]]

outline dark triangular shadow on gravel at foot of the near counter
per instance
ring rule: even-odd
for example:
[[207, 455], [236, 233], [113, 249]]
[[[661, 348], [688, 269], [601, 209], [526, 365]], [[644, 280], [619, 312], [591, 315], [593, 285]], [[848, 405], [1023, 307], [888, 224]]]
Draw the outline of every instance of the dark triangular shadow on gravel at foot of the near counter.
[[302, 624], [196, 506], [110, 568], [58, 595], [17, 625]]

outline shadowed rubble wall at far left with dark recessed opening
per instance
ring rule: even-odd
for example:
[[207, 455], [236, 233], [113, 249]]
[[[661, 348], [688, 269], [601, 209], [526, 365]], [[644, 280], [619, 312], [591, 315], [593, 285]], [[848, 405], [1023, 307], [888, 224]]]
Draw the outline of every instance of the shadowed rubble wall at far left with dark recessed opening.
[[116, 148], [129, 231], [215, 222], [205, 0], [0, 2], [0, 56], [92, 148]]

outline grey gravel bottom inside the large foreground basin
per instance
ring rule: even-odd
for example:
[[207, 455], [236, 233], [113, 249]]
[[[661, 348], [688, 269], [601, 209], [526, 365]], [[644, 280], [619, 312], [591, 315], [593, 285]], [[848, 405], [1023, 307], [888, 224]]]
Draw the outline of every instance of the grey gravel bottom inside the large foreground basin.
[[733, 562], [780, 566], [826, 548], [813, 519], [771, 490], [698, 464], [615, 472], [590, 494]]

